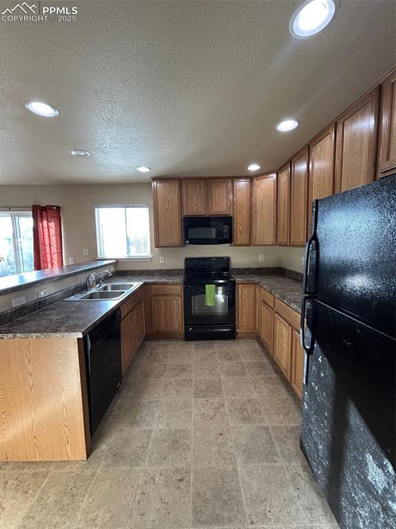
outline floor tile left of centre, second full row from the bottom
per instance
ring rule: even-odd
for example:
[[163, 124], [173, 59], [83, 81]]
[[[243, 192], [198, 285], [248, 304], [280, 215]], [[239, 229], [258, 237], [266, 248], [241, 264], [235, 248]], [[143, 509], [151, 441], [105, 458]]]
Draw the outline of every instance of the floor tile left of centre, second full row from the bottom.
[[147, 466], [189, 465], [191, 465], [191, 428], [154, 430]]

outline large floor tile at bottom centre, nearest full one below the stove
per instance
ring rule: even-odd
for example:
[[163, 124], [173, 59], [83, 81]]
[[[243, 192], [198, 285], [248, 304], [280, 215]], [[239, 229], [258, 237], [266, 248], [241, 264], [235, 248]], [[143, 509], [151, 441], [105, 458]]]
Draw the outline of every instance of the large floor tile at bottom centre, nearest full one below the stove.
[[246, 523], [236, 467], [193, 467], [191, 525], [221, 526]]

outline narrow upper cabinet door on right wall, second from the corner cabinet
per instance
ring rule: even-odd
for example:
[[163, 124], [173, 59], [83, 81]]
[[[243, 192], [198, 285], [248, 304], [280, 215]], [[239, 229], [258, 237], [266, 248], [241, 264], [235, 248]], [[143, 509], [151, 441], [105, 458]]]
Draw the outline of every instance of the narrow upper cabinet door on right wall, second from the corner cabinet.
[[290, 244], [304, 246], [308, 206], [308, 147], [291, 160]]

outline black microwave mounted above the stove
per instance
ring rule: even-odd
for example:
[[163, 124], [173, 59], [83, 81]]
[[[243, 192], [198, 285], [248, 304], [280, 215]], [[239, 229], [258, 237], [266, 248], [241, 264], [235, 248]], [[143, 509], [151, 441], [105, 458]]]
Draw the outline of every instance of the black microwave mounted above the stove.
[[230, 245], [232, 217], [183, 217], [185, 245]]

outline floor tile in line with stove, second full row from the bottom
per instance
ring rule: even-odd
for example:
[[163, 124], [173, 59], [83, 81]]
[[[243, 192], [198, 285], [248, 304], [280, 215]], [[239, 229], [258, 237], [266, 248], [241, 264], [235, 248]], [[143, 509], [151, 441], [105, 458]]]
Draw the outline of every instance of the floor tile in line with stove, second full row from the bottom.
[[236, 465], [235, 450], [229, 426], [194, 426], [193, 465]]

